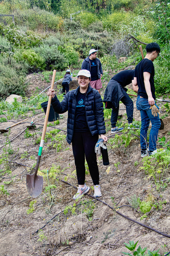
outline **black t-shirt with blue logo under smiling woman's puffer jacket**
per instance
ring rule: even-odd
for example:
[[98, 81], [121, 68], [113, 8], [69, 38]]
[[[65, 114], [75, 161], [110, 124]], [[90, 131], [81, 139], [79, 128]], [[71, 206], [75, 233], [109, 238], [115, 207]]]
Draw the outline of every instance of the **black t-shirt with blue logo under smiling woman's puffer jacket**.
[[75, 124], [74, 131], [75, 132], [87, 132], [89, 131], [89, 127], [85, 117], [85, 94], [78, 92], [76, 99], [76, 115], [75, 115]]

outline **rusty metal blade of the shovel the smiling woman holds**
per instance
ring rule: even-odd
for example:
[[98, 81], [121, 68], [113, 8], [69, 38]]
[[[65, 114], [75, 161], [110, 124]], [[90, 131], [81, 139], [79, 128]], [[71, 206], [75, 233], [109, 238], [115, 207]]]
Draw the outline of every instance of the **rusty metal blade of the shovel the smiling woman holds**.
[[43, 189], [43, 177], [35, 176], [34, 174], [26, 174], [26, 189], [30, 196], [40, 196]]

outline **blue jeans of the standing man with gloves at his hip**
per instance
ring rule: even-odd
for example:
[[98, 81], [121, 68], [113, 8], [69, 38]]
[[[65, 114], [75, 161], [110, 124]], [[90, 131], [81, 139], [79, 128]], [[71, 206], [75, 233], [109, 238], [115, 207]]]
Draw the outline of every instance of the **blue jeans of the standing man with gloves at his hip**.
[[[148, 103], [148, 99], [140, 98], [140, 96], [137, 96], [137, 109], [140, 110], [141, 115], [141, 130], [140, 130], [140, 145], [141, 149], [145, 150], [147, 148], [147, 131], [149, 127], [149, 123], [151, 121], [152, 128], [149, 135], [149, 150], [153, 151], [156, 149], [156, 142], [158, 138], [158, 132], [160, 128], [160, 119], [159, 114], [158, 116], [152, 115], [152, 110], [150, 109], [150, 105]], [[157, 106], [155, 104], [155, 106]], [[159, 109], [159, 107], [157, 106]]]

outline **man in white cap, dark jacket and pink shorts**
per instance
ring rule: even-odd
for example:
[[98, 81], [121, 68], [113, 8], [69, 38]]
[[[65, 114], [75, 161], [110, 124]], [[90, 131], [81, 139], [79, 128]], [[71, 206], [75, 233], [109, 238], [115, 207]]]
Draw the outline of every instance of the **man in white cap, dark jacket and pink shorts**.
[[101, 77], [103, 76], [103, 70], [100, 60], [96, 57], [97, 51], [98, 50], [95, 49], [89, 51], [89, 56], [83, 61], [81, 69], [90, 71], [90, 86], [100, 93], [100, 89], [102, 88]]

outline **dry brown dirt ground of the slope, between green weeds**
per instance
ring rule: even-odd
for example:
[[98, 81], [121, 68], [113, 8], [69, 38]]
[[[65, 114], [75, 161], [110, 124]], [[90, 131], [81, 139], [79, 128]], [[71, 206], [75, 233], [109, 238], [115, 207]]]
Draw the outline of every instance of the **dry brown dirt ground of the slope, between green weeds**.
[[[41, 92], [50, 85], [44, 81], [42, 82], [38, 74], [36, 76], [29, 76], [28, 81], [27, 97], [33, 95], [37, 90], [35, 90], [35, 87], [38, 87]], [[102, 93], [104, 92], [102, 91]], [[136, 109], [135, 104], [136, 98], [133, 98], [133, 101], [134, 118], [136, 121], [140, 121], [140, 113]], [[160, 116], [165, 115], [165, 108], [161, 108], [161, 106], [163, 106], [162, 103], [159, 104]], [[119, 114], [122, 115], [123, 120], [126, 120], [125, 113], [125, 106], [120, 104]], [[28, 116], [29, 120], [27, 123], [11, 128], [10, 140], [22, 132], [26, 125], [30, 124], [32, 113], [29, 112]], [[33, 198], [28, 194], [26, 190], [26, 174], [34, 172], [31, 167], [36, 163], [39, 150], [39, 144], [35, 144], [35, 140], [41, 136], [44, 123], [44, 119], [40, 120], [41, 118], [44, 118], [44, 112], [39, 110], [34, 119], [36, 129], [29, 130], [34, 136], [25, 138], [24, 131], [11, 141], [14, 154], [10, 155], [10, 161], [12, 162], [8, 162], [8, 164], [12, 171], [11, 175], [16, 176], [13, 179], [13, 183], [4, 185], [4, 188], [9, 192], [8, 202], [0, 194], [0, 256], [123, 255], [122, 252], [129, 252], [124, 245], [124, 243], [129, 243], [129, 240], [139, 241], [138, 246], [141, 245], [142, 248], [147, 247], [150, 251], [160, 249], [159, 253], [161, 255], [169, 252], [170, 238], [164, 236], [164, 234], [170, 236], [170, 183], [166, 189], [156, 190], [153, 180], [148, 180], [144, 170], [139, 170], [139, 167], [142, 166], [142, 158], [140, 156], [140, 141], [137, 137], [130, 142], [127, 148], [122, 146], [118, 150], [108, 146], [109, 166], [104, 166], [102, 159], [98, 158], [102, 192], [100, 200], [106, 204], [96, 199], [94, 200], [88, 195], [85, 195], [82, 201], [78, 200], [78, 202], [75, 202], [73, 200], [76, 189], [60, 181], [60, 178], [61, 180], [65, 178], [67, 182], [77, 186], [71, 145], [69, 146], [65, 143], [63, 147], [67, 150], [56, 152], [55, 148], [49, 146], [51, 139], [44, 143], [40, 171], [47, 168], [50, 170], [52, 164], [60, 166], [60, 170], [62, 170], [61, 177], [58, 171], [59, 174], [55, 181], [56, 188], [52, 190], [54, 200], [52, 202], [48, 201], [48, 193], [45, 189], [37, 198]], [[11, 121], [16, 122], [20, 120]], [[67, 113], [59, 121], [60, 124], [57, 125], [57, 128], [66, 131]], [[163, 121], [165, 128], [159, 131], [159, 137], [165, 136], [168, 139], [170, 116], [164, 118]], [[13, 122], [1, 123], [1, 129], [5, 129], [11, 124]], [[47, 132], [51, 130], [53, 130], [52, 127], [47, 127]], [[66, 134], [63, 131], [58, 133]], [[110, 135], [112, 134], [108, 131], [107, 136]], [[1, 133], [0, 155], [4, 152], [3, 145], [5, 140], [5, 134]], [[25, 157], [23, 157], [23, 154], [25, 154]], [[137, 166], [134, 165], [136, 161], [138, 162]], [[114, 165], [117, 162], [120, 162], [118, 166], [120, 172], [117, 172]], [[3, 167], [4, 165], [2, 164], [1, 168]], [[108, 167], [110, 167], [110, 171], [108, 171]], [[166, 178], [169, 177], [170, 171], [166, 173]], [[10, 176], [4, 174], [0, 178], [0, 185], [3, 185], [4, 181], [10, 179]], [[86, 184], [92, 186], [89, 174], [86, 175]], [[45, 178], [44, 188], [46, 186]], [[93, 195], [92, 188], [88, 194]], [[158, 202], [159, 200], [166, 200], [166, 204], [162, 205], [161, 210], [156, 210], [152, 207], [151, 211], [147, 213], [147, 218], [141, 220], [142, 214], [140, 211], [134, 212], [129, 207], [128, 198], [133, 195], [140, 197], [141, 201], [146, 199], [148, 195], [151, 195]], [[26, 211], [33, 200], [36, 200], [34, 204], [35, 211], [27, 214]], [[77, 205], [75, 214], [68, 210], [68, 213], [65, 215], [63, 213], [65, 207], [68, 205], [73, 206], [74, 203]], [[126, 219], [115, 210], [110, 209], [107, 204], [132, 220], [154, 228], [163, 234], [159, 234]], [[87, 214], [89, 209], [93, 211], [91, 217]], [[37, 233], [37, 231], [39, 232]], [[164, 252], [163, 248], [165, 245], [166, 249]]]

